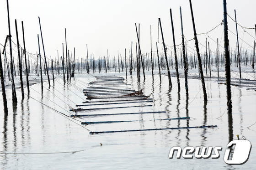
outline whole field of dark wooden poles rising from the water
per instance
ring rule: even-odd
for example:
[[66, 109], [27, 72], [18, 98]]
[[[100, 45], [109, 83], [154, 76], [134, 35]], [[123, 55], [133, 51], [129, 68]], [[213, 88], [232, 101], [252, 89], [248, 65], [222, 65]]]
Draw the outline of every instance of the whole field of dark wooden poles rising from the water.
[[[176, 44], [175, 44], [175, 33], [174, 33], [174, 26], [173, 26], [173, 20], [172, 20], [172, 12], [170, 9], [170, 16], [171, 16], [171, 26], [172, 26], [172, 36], [173, 36], [173, 48], [174, 48], [174, 66], [176, 69], [176, 77], [177, 77], [177, 83], [178, 83], [178, 89], [180, 89], [180, 78], [179, 78], [179, 72], [178, 72], [178, 68], [179, 67], [183, 67], [184, 66], [184, 75], [185, 75], [185, 88], [186, 88], [186, 94], [188, 95], [188, 86], [187, 86], [187, 71], [188, 71], [188, 66], [190, 65], [191, 67], [195, 67], [196, 68], [196, 64], [198, 64], [198, 70], [199, 70], [199, 74], [201, 76], [201, 81], [202, 81], [202, 86], [203, 86], [203, 97], [204, 100], [207, 101], [207, 93], [206, 93], [206, 88], [205, 88], [205, 82], [204, 82], [204, 76], [203, 76], [203, 65], [202, 65], [202, 59], [201, 59], [201, 55], [203, 56], [203, 54], [200, 55], [199, 52], [199, 47], [198, 47], [198, 40], [197, 40], [197, 33], [196, 33], [196, 27], [195, 27], [195, 22], [194, 22], [194, 17], [193, 17], [193, 11], [192, 11], [192, 3], [191, 0], [190, 2], [190, 9], [191, 9], [191, 15], [192, 15], [192, 24], [193, 24], [193, 31], [194, 31], [194, 40], [195, 40], [195, 47], [196, 47], [196, 52], [197, 52], [197, 61], [195, 56], [194, 57], [188, 57], [187, 56], [187, 44], [185, 46], [185, 41], [184, 41], [184, 34], [183, 34], [183, 25], [182, 25], [182, 15], [181, 15], [181, 7], [180, 7], [180, 17], [181, 17], [181, 38], [182, 38], [182, 52], [180, 53], [181, 57], [180, 59], [178, 59], [177, 57], [177, 50], [176, 50]], [[224, 0], [224, 55], [221, 55], [220, 57], [220, 64], [224, 64], [224, 59], [225, 59], [225, 71], [226, 71], [226, 79], [227, 79], [227, 106], [228, 106], [228, 113], [232, 113], [232, 102], [231, 102], [231, 92], [230, 92], [230, 51], [229, 51], [229, 40], [228, 40], [228, 33], [227, 33], [227, 13], [226, 11], [226, 1]], [[9, 19], [9, 5], [8, 5], [8, 0], [7, 0], [7, 12], [8, 12], [8, 25], [9, 25], [9, 35], [6, 37], [5, 40], [5, 46], [6, 46], [6, 42], [9, 39], [9, 46], [10, 46], [10, 56], [11, 56], [11, 61], [10, 61], [10, 72], [11, 72], [11, 77], [9, 74], [9, 68], [8, 68], [8, 62], [7, 62], [7, 70], [8, 70], [8, 77], [9, 80], [11, 79], [11, 83], [12, 83], [12, 102], [16, 103], [17, 102], [17, 97], [16, 97], [16, 90], [15, 90], [15, 83], [14, 83], [14, 72], [15, 71], [15, 67], [14, 67], [14, 61], [13, 61], [13, 57], [12, 57], [12, 47], [11, 47], [11, 31], [10, 31], [10, 19]], [[42, 35], [42, 30], [41, 30], [41, 23], [40, 23], [40, 18], [39, 19], [39, 26], [40, 26], [40, 32], [41, 32], [41, 38], [42, 38], [42, 44], [43, 44], [43, 35]], [[235, 15], [235, 20], [236, 20], [236, 15]], [[161, 26], [161, 20], [160, 18], [158, 19], [159, 25], [160, 25], [160, 30], [161, 30], [161, 36], [162, 36], [162, 42], [163, 42], [163, 49], [164, 49], [164, 54], [162, 55], [162, 53], [160, 53], [160, 57], [159, 57], [159, 51], [158, 51], [158, 46], [157, 46], [157, 42], [156, 42], [156, 49], [157, 49], [157, 62], [156, 62], [156, 57], [154, 54], [154, 59], [153, 59], [153, 53], [152, 53], [152, 41], [151, 41], [151, 26], [150, 26], [150, 42], [151, 42], [151, 51], [150, 51], [150, 57], [145, 55], [142, 55], [141, 52], [141, 48], [140, 48], [140, 41], [139, 41], [139, 27], [137, 28], [137, 25], [135, 24], [135, 28], [136, 28], [136, 33], [137, 33], [137, 39], [138, 39], [138, 46], [137, 46], [137, 42], [136, 42], [136, 59], [133, 58], [132, 55], [132, 50], [133, 50], [133, 43], [132, 43], [132, 47], [131, 47], [131, 53], [128, 57], [128, 61], [127, 61], [127, 57], [126, 57], [126, 49], [125, 49], [125, 62], [123, 62], [122, 57], [120, 55], [121, 58], [121, 62], [119, 62], [119, 54], [117, 55], [117, 61], [118, 61], [118, 70], [120, 72], [120, 66], [122, 68], [123, 71], [123, 67], [125, 67], [125, 71], [126, 71], [126, 76], [127, 76], [127, 62], [129, 62], [130, 68], [129, 68], [129, 73], [130, 75], [132, 74], [132, 71], [134, 69], [135, 71], [135, 66], [137, 65], [137, 77], [138, 77], [138, 82], [140, 82], [140, 67], [142, 67], [143, 70], [143, 77], [144, 77], [144, 81], [145, 81], [145, 68], [147, 68], [149, 70], [149, 68], [151, 67], [151, 71], [152, 71], [152, 78], [154, 80], [154, 66], [156, 68], [156, 66], [158, 65], [159, 68], [159, 76], [160, 76], [160, 81], [161, 81], [161, 73], [160, 73], [160, 66], [163, 69], [163, 66], [167, 68], [167, 75], [168, 75], [168, 81], [169, 81], [169, 86], [172, 87], [172, 82], [171, 82], [171, 74], [170, 74], [170, 66], [172, 66], [173, 68], [173, 60], [172, 57], [167, 57], [167, 47], [165, 45], [164, 42], [164, 36], [163, 36], [163, 31], [162, 31], [162, 26]], [[27, 66], [27, 57], [26, 57], [26, 47], [25, 47], [25, 38], [24, 38], [24, 28], [23, 28], [23, 21], [21, 22], [22, 24], [22, 33], [23, 33], [23, 44], [24, 44], [24, 49], [23, 49], [23, 53], [24, 53], [24, 57], [25, 57], [25, 70], [26, 70], [26, 79], [27, 79], [27, 91], [28, 91], [28, 95], [29, 95], [29, 80], [28, 80], [28, 75], [29, 75], [29, 68]], [[23, 87], [23, 80], [22, 80], [22, 55], [20, 54], [20, 45], [19, 45], [19, 39], [18, 39], [18, 30], [17, 30], [17, 23], [15, 20], [15, 25], [16, 25], [16, 37], [17, 37], [17, 48], [18, 48], [18, 70], [19, 70], [19, 75], [20, 75], [20, 81], [21, 81], [21, 95], [22, 98], [24, 98], [24, 87]], [[238, 33], [237, 33], [237, 38], [238, 38]], [[39, 49], [39, 54], [37, 55], [36, 58], [36, 63], [35, 63], [35, 70], [37, 72], [37, 76], [39, 76], [39, 66], [38, 66], [38, 57], [40, 60], [40, 75], [41, 75], [41, 84], [42, 84], [42, 91], [43, 91], [43, 76], [42, 76], [42, 64], [41, 64], [41, 52], [40, 52], [40, 44], [39, 44], [39, 35], [37, 35], [37, 39], [38, 39], [38, 49]], [[98, 68], [99, 73], [101, 72], [101, 69], [105, 67], [105, 72], [107, 72], [107, 70], [110, 70], [110, 68], [115, 68], [115, 72], [116, 72], [116, 58], [114, 56], [114, 59], [112, 61], [112, 65], [111, 65], [111, 60], [110, 57], [108, 56], [108, 52], [107, 52], [107, 60], [106, 57], [104, 57], [103, 59], [103, 64], [102, 64], [102, 58], [99, 57], [98, 61], [96, 62], [96, 58], [93, 56], [92, 54], [92, 59], [90, 61], [90, 66], [89, 66], [89, 57], [88, 57], [88, 47], [86, 44], [86, 49], [87, 49], [87, 59], [85, 59], [82, 62], [82, 58], [81, 58], [81, 62], [79, 63], [78, 59], [77, 62], [75, 63], [75, 48], [74, 48], [74, 59], [72, 59], [72, 55], [71, 55], [71, 59], [69, 57], [69, 52], [67, 51], [67, 39], [66, 39], [66, 29], [65, 29], [65, 46], [66, 46], [66, 61], [64, 59], [64, 43], [63, 45], [63, 56], [61, 57], [61, 64], [59, 64], [59, 52], [58, 52], [58, 60], [57, 60], [57, 64], [58, 64], [58, 72], [62, 67], [63, 70], [63, 80], [64, 80], [64, 84], [66, 83], [66, 80], [69, 81], [71, 80], [71, 77], [74, 77], [75, 74], [75, 68], [80, 69], [80, 72], [82, 72], [82, 64], [84, 63], [84, 69], [86, 69], [86, 72], [89, 74], [90, 73], [90, 67], [93, 73], [96, 72], [96, 68]], [[215, 53], [215, 65], [216, 67], [218, 67], [218, 77], [219, 77], [219, 41], [217, 39], [217, 46], [218, 46], [218, 50], [216, 50]], [[208, 45], [208, 47], [207, 47]], [[240, 57], [240, 50], [239, 50], [239, 44], [237, 43], [237, 55], [235, 55], [234, 59], [235, 59], [235, 65], [237, 67], [239, 67], [240, 69], [240, 63], [241, 63], [241, 57]], [[3, 54], [5, 53], [5, 46], [4, 46], [4, 50], [3, 50]], [[252, 61], [252, 67], [254, 69], [254, 58], [255, 58], [255, 46], [256, 44], [254, 43], [254, 52], [253, 52], [253, 56], [251, 57], [250, 62]], [[137, 48], [138, 47], [138, 48]], [[22, 49], [21, 49], [22, 51]], [[207, 52], [208, 51], [208, 52]], [[22, 53], [22, 52], [21, 52]], [[45, 74], [47, 73], [47, 77], [48, 77], [48, 84], [49, 87], [51, 86], [50, 84], [50, 78], [49, 78], [49, 73], [48, 73], [48, 66], [47, 66], [47, 59], [46, 59], [46, 55], [45, 55], [45, 50], [44, 50], [44, 45], [43, 45], [43, 53], [44, 53], [44, 71]], [[228, 54], [227, 54], [228, 53]], [[210, 55], [210, 48], [209, 48], [209, 42], [207, 43], [206, 40], [206, 52], [204, 54], [204, 59], [203, 59], [203, 64], [204, 67], [206, 65], [206, 74], [207, 74], [207, 67], [209, 68], [210, 71], [210, 76], [211, 76], [211, 65], [214, 65], [214, 60], [213, 60], [213, 55]], [[224, 56], [224, 58], [222, 57]], [[232, 53], [231, 53], [232, 56]], [[6, 53], [5, 53], [5, 58], [6, 58]], [[150, 63], [150, 59], [151, 59], [151, 63]], [[7, 59], [7, 58], [6, 58]], [[233, 59], [233, 60], [234, 60]], [[248, 62], [248, 57], [247, 57], [247, 52], [245, 52], [245, 57], [244, 57], [244, 63]], [[54, 65], [53, 65], [53, 59], [51, 59], [51, 67], [52, 67], [52, 73], [53, 73], [53, 86], [54, 86]], [[231, 58], [231, 62], [232, 62], [232, 58]], [[124, 63], [124, 64], [123, 64]], [[169, 63], [169, 64], [168, 64]], [[62, 66], [60, 66], [62, 65]], [[79, 67], [80, 65], [80, 67]], [[3, 99], [4, 99], [4, 111], [5, 114], [8, 114], [8, 109], [7, 109], [7, 101], [6, 101], [6, 94], [5, 94], [5, 87], [4, 87], [4, 81], [5, 81], [5, 76], [3, 75], [3, 67], [2, 67], [2, 60], [0, 58], [0, 75], [1, 75], [1, 84], [2, 84], [2, 93], [3, 93]], [[23, 69], [24, 70], [24, 69]], [[24, 70], [24, 71], [25, 71]], [[57, 74], [57, 65], [56, 65], [56, 59], [55, 59], [55, 71]], [[66, 72], [66, 77], [65, 77], [65, 72]], [[241, 70], [240, 70], [240, 78], [241, 78]]]

